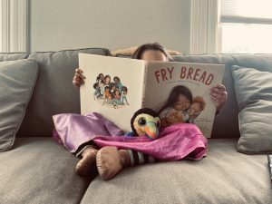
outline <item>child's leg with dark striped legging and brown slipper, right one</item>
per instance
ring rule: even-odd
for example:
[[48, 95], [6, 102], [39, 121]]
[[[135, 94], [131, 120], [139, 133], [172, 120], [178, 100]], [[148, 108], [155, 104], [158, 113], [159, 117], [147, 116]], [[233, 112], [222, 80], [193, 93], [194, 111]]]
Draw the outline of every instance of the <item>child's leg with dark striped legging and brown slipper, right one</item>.
[[115, 147], [104, 147], [98, 151], [96, 166], [103, 180], [111, 180], [123, 168], [157, 161], [139, 151], [117, 150]]

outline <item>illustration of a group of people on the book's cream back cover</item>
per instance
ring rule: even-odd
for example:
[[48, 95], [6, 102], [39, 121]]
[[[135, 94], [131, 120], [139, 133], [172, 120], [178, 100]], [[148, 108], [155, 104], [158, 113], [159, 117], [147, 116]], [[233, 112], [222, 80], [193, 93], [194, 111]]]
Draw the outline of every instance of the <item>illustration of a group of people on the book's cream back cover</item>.
[[102, 106], [109, 108], [123, 108], [130, 105], [128, 102], [128, 88], [121, 83], [118, 76], [112, 78], [109, 74], [99, 73], [96, 82], [93, 84], [94, 100], [101, 103]]

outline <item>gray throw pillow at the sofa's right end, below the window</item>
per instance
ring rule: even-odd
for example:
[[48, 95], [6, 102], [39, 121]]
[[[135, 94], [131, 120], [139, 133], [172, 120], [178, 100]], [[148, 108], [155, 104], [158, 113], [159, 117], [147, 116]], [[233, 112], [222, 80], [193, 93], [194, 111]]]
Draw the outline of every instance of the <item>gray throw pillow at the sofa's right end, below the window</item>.
[[238, 151], [272, 152], [272, 73], [233, 66], [241, 137]]

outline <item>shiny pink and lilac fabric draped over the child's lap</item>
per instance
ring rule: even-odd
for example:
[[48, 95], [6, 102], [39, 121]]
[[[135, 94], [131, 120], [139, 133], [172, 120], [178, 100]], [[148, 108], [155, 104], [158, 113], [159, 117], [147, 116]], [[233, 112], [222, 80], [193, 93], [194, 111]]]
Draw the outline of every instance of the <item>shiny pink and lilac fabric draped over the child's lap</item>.
[[207, 152], [207, 139], [194, 124], [171, 125], [160, 131], [158, 139], [151, 141], [145, 136], [122, 136], [121, 129], [98, 113], [86, 116], [59, 114], [53, 116], [53, 121], [63, 145], [71, 152], [87, 141], [93, 141], [99, 147], [141, 151], [159, 160], [181, 160], [185, 157], [200, 160]]

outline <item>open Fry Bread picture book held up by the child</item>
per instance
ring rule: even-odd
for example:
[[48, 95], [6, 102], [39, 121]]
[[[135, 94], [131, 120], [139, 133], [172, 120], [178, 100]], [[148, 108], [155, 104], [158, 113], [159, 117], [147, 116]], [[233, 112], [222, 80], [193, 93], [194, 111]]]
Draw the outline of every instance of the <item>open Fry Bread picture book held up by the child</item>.
[[99, 112], [123, 131], [141, 108], [160, 113], [161, 126], [189, 122], [210, 137], [216, 106], [210, 87], [221, 83], [224, 65], [145, 62], [79, 53], [86, 76], [81, 86], [81, 113]]

